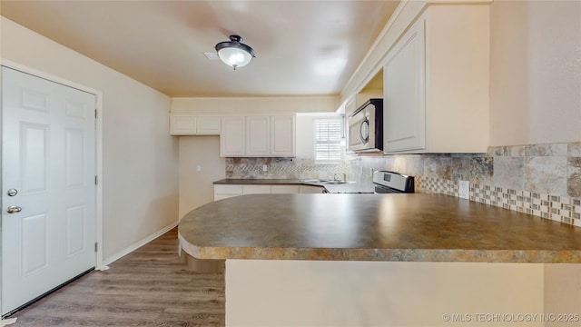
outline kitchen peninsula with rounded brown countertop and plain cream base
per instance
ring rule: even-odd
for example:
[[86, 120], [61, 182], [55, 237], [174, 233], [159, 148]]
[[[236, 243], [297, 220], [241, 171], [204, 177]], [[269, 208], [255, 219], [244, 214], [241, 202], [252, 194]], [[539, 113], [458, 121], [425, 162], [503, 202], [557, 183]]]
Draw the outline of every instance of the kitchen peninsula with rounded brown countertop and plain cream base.
[[581, 300], [581, 229], [446, 195], [242, 195], [188, 213], [179, 234], [193, 257], [226, 260], [231, 326], [581, 313], [567, 309]]

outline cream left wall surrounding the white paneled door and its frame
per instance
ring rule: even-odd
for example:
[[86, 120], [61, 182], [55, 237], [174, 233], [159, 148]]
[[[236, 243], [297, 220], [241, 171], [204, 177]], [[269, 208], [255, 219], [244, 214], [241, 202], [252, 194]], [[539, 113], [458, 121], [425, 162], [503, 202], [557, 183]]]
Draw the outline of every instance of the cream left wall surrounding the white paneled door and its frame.
[[103, 258], [178, 220], [171, 98], [0, 17], [2, 58], [103, 92]]

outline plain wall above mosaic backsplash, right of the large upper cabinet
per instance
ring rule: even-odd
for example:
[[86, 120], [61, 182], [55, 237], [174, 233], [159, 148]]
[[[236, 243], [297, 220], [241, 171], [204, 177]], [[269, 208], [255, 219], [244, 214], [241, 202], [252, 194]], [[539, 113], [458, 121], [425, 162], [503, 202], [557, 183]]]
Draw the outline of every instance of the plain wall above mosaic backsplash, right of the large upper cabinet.
[[581, 140], [581, 2], [490, 8], [490, 145]]

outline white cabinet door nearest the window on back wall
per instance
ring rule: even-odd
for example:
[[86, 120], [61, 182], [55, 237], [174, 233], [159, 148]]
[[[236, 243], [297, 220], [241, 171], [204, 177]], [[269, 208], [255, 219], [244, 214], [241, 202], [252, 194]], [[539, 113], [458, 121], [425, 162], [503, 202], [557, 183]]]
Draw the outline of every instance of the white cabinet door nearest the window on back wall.
[[294, 116], [271, 116], [271, 156], [295, 155]]

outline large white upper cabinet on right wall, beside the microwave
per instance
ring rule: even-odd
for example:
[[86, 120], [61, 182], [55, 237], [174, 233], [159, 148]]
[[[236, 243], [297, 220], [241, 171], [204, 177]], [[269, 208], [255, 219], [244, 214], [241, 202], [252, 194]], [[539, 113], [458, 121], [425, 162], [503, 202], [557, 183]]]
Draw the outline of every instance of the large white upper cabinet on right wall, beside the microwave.
[[489, 6], [430, 5], [383, 62], [384, 152], [485, 153]]

